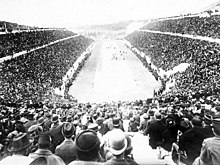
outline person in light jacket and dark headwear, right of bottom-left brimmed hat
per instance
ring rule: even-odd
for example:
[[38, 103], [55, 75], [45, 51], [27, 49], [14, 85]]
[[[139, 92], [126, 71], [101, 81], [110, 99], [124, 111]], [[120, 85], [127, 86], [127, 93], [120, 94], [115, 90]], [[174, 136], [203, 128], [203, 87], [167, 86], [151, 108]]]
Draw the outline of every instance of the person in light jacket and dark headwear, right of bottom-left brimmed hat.
[[43, 132], [38, 139], [38, 149], [29, 155], [32, 159], [45, 157], [47, 165], [65, 165], [64, 161], [50, 151], [51, 138], [48, 132]]

